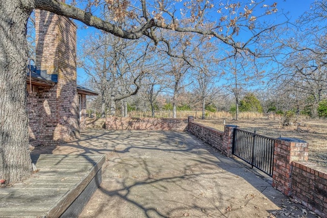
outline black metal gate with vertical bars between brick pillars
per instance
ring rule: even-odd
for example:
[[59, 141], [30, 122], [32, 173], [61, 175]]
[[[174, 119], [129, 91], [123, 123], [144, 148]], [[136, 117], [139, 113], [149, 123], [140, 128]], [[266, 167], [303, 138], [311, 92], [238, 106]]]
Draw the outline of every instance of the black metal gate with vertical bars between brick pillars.
[[273, 138], [235, 128], [232, 154], [272, 177], [274, 143]]

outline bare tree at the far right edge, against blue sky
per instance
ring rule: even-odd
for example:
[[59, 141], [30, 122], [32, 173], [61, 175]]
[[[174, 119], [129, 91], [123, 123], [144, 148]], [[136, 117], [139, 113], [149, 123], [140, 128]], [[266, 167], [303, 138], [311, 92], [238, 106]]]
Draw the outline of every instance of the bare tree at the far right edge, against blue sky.
[[303, 14], [283, 43], [287, 49], [281, 61], [282, 68], [275, 76], [281, 87], [293, 87], [293, 91], [313, 99], [311, 116], [318, 117], [318, 104], [327, 90], [327, 1], [317, 1], [311, 10]]

